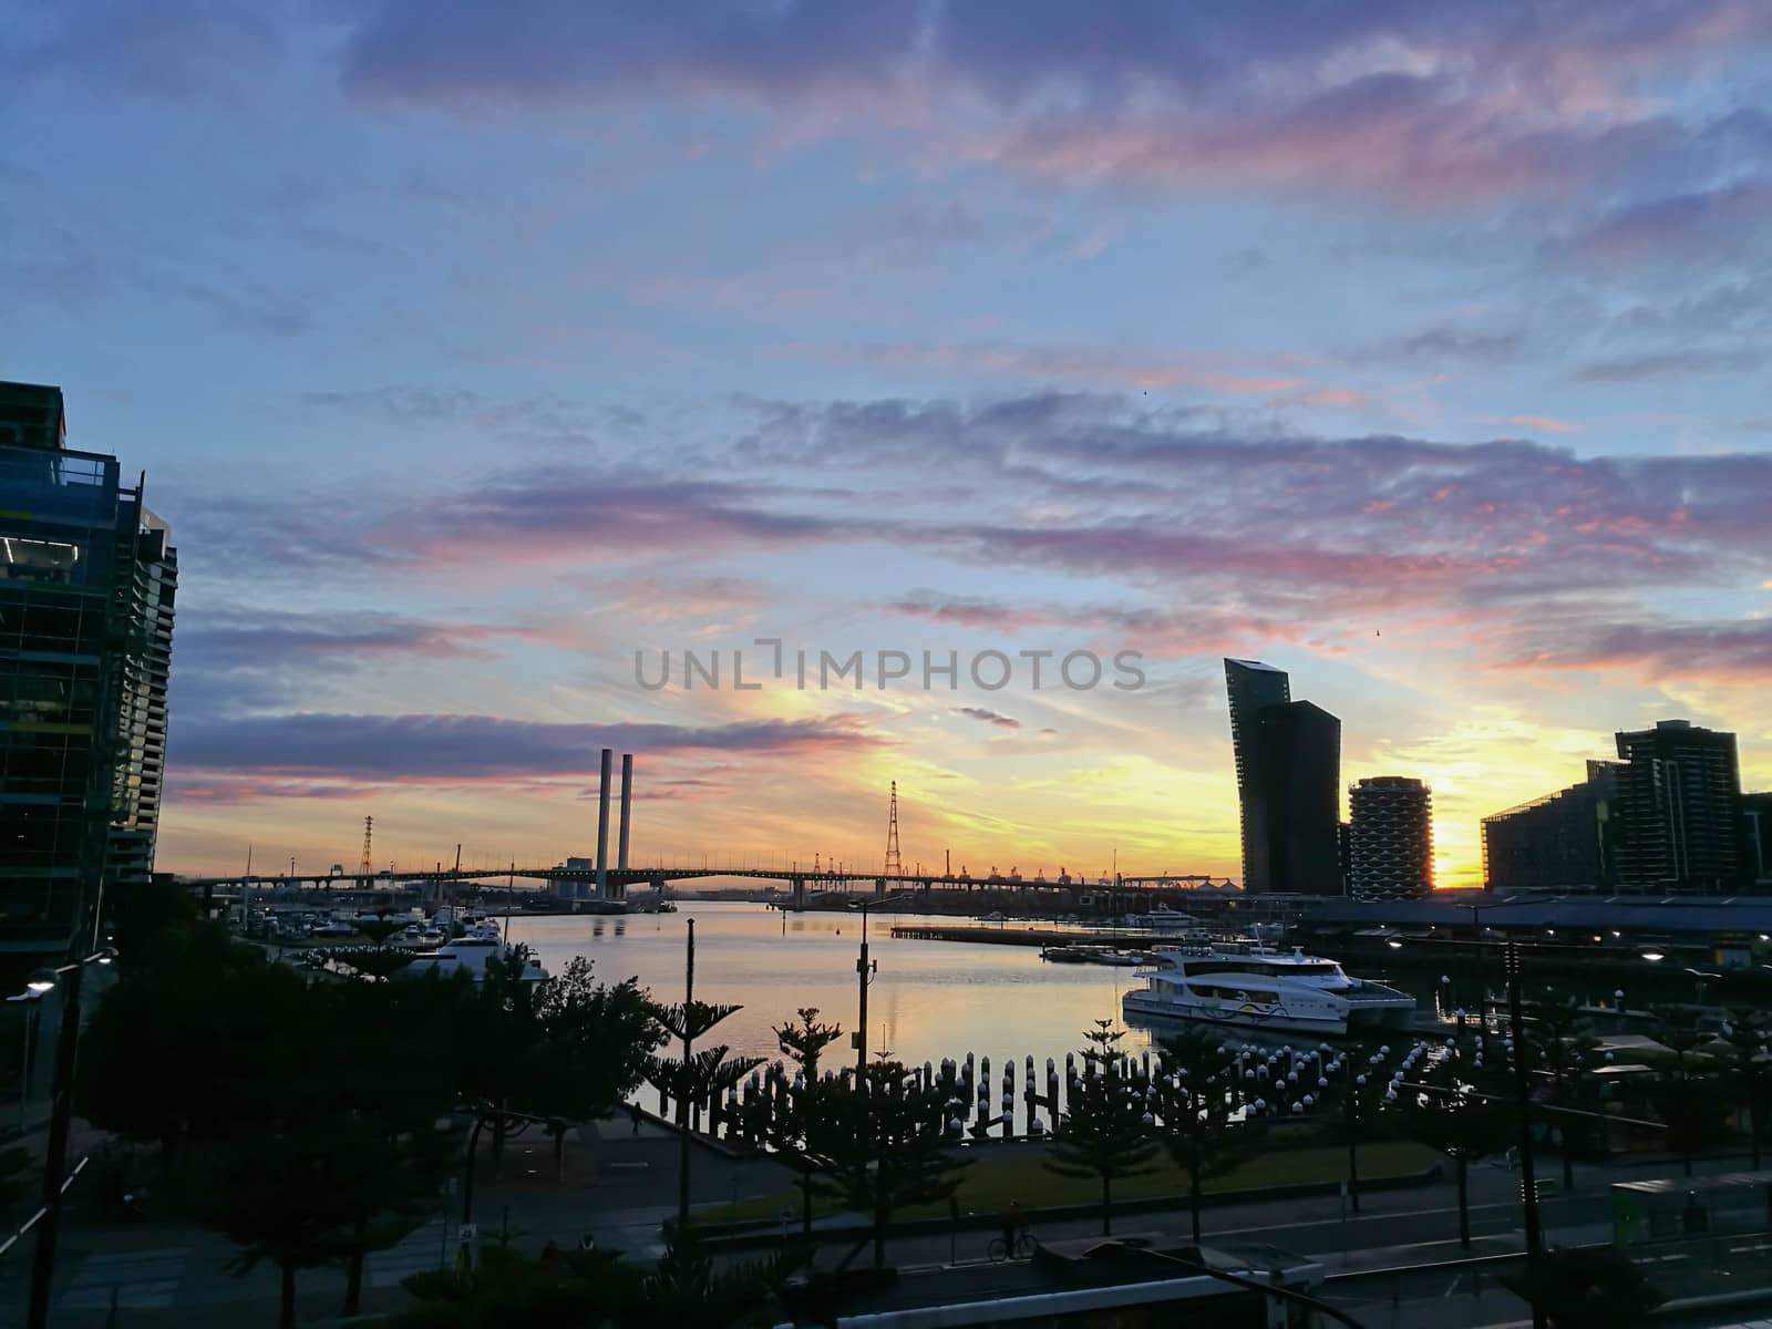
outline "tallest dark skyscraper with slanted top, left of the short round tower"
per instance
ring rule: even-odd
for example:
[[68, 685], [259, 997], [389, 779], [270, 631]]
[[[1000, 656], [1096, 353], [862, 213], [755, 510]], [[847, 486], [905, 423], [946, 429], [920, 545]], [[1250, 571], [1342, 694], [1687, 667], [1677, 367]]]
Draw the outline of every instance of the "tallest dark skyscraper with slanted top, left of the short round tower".
[[1341, 893], [1341, 721], [1294, 702], [1285, 670], [1226, 659], [1247, 891]]

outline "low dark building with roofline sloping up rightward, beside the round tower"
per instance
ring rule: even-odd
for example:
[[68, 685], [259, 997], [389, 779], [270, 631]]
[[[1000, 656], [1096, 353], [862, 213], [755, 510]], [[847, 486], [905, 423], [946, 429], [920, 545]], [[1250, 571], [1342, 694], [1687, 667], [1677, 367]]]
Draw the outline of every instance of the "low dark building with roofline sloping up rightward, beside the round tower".
[[1483, 819], [1483, 882], [1492, 891], [1611, 891], [1618, 884], [1618, 762]]

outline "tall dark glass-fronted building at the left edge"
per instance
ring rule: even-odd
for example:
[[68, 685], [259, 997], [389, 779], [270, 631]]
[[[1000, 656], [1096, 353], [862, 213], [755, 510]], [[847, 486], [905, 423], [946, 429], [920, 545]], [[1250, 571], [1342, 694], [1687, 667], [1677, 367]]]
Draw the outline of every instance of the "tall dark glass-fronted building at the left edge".
[[58, 388], [0, 383], [0, 939], [53, 952], [154, 868], [177, 551]]

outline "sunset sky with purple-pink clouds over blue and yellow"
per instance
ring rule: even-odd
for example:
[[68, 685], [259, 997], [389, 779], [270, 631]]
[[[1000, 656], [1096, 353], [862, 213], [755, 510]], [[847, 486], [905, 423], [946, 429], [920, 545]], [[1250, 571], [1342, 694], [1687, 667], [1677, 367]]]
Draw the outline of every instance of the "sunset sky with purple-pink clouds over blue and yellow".
[[1772, 785], [1768, 48], [11, 0], [0, 377], [179, 546], [159, 867], [558, 863], [615, 746], [643, 863], [875, 870], [897, 781], [907, 865], [1235, 877], [1223, 656], [1432, 785], [1441, 886], [1620, 728]]

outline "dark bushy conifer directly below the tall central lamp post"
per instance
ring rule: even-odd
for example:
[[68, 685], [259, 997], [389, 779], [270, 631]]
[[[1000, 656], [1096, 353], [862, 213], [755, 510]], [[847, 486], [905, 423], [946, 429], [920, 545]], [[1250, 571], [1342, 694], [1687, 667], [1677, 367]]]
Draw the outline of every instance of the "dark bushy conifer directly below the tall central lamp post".
[[817, 1099], [826, 1177], [813, 1182], [843, 1209], [874, 1219], [874, 1267], [886, 1260], [886, 1226], [911, 1205], [959, 1189], [962, 1161], [946, 1152], [948, 1093], [921, 1084], [902, 1061], [879, 1060], [829, 1081]]

